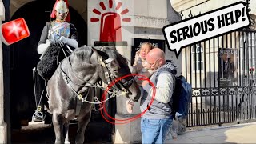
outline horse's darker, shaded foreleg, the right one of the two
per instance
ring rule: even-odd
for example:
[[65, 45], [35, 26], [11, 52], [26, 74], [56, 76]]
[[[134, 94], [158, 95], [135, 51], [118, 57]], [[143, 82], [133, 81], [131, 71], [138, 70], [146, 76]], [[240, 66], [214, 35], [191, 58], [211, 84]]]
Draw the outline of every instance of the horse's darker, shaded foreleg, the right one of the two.
[[88, 114], [86, 114], [86, 116], [78, 122], [78, 134], [75, 138], [75, 143], [77, 144], [81, 144], [85, 140], [85, 130], [86, 130], [87, 124], [90, 121], [90, 115], [91, 115], [90, 112], [88, 112]]

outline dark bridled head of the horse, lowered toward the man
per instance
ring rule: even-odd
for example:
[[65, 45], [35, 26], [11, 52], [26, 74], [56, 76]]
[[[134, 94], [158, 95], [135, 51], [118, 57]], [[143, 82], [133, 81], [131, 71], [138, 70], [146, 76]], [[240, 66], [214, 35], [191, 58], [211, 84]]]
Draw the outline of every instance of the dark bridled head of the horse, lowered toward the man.
[[94, 50], [97, 51], [98, 62], [102, 65], [101, 72], [104, 73], [102, 74], [102, 81], [110, 83], [117, 78], [122, 78], [114, 86], [119, 90], [125, 90], [127, 92], [126, 96], [137, 102], [140, 90], [134, 77], [130, 75], [131, 72], [126, 58], [123, 58], [114, 47], [103, 47], [102, 50]]

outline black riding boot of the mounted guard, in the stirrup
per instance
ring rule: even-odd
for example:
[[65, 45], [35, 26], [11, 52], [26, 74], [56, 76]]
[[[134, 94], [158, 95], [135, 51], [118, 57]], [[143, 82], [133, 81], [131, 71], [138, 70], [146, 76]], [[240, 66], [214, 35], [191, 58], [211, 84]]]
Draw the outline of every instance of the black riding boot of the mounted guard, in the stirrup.
[[45, 80], [38, 74], [38, 71], [36, 70], [36, 68], [33, 69], [33, 79], [34, 79], [34, 100], [37, 108], [32, 116], [32, 121], [42, 122], [44, 120], [42, 100], [44, 98]]

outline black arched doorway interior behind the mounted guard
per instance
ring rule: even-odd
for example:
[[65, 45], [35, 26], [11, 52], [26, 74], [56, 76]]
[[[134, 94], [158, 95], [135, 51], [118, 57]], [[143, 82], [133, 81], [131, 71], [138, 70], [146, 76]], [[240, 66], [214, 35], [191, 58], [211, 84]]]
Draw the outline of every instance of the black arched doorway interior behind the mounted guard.
[[[55, 1], [34, 1], [19, 8], [11, 20], [24, 18], [30, 37], [10, 46], [10, 107], [11, 126], [19, 128], [21, 122], [31, 120], [36, 108], [34, 102], [32, 69], [37, 65], [38, 41], [46, 22], [50, 21], [50, 6]], [[51, 8], [52, 9], [52, 8]], [[48, 12], [47, 12], [48, 11]], [[78, 45], [86, 45], [87, 25], [76, 10], [70, 7], [71, 23], [78, 30]]]

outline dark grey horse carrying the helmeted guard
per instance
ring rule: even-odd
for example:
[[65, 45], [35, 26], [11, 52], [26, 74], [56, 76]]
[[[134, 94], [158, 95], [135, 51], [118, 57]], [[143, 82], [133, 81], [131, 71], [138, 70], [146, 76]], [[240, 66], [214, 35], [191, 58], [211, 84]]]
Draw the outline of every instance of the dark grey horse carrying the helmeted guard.
[[[49, 110], [53, 115], [55, 143], [69, 142], [69, 122], [74, 118], [78, 120], [75, 142], [83, 143], [93, 104], [82, 102], [81, 109], [76, 111], [77, 102], [79, 99], [94, 102], [95, 94], [91, 86], [96, 82], [102, 80], [108, 84], [114, 78], [128, 74], [131, 73], [126, 59], [109, 47], [97, 50], [82, 46], [64, 58], [46, 87]], [[125, 90], [127, 98], [138, 101], [140, 91], [132, 76], [118, 81], [115, 87]]]

